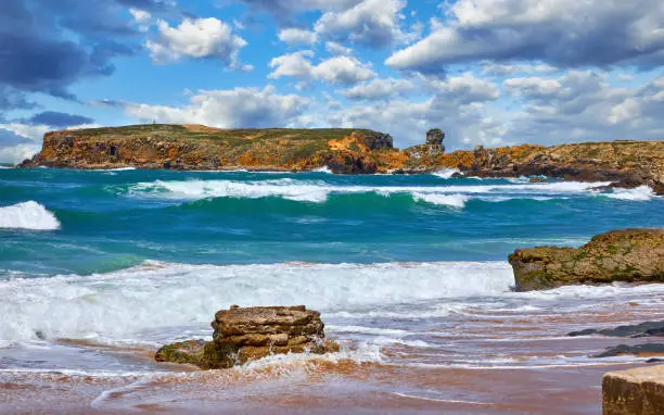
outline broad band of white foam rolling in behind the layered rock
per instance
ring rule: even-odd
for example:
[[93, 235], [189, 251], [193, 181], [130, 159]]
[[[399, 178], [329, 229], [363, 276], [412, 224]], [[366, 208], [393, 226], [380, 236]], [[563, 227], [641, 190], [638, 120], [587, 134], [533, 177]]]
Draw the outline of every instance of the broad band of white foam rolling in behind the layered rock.
[[[307, 304], [323, 313], [354, 312], [374, 305], [497, 295], [509, 292], [512, 282], [511, 268], [502, 262], [146, 263], [103, 275], [0, 282], [0, 342], [35, 340], [37, 331], [49, 339], [164, 341], [181, 335], [183, 326], [206, 326], [217, 310], [231, 304]], [[137, 335], [145, 330], [155, 332], [154, 338]]]

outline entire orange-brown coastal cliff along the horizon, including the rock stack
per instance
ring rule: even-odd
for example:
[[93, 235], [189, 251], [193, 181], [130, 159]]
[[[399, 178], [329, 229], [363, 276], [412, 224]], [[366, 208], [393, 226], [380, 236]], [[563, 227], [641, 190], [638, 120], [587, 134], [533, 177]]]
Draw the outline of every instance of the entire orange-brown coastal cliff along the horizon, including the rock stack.
[[548, 176], [611, 186], [650, 186], [664, 194], [664, 142], [613, 141], [554, 147], [522, 144], [445, 152], [445, 134], [405, 150], [368, 129], [218, 129], [136, 125], [48, 133], [21, 167], [311, 171], [341, 174], [458, 169], [478, 177]]

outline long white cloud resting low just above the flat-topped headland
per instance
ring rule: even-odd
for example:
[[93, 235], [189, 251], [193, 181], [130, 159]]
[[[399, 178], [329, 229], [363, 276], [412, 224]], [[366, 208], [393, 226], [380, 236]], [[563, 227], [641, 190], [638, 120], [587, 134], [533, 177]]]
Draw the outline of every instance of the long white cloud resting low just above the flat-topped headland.
[[279, 95], [273, 87], [203, 90], [183, 106], [125, 104], [128, 115], [145, 122], [203, 124], [219, 128], [288, 126], [309, 101], [296, 95]]

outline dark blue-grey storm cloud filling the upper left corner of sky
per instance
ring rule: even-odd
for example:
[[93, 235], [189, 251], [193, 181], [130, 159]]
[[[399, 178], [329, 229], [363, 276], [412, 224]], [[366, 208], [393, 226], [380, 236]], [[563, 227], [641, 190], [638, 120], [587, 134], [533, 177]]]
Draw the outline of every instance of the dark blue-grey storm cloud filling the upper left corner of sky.
[[[33, 92], [76, 99], [71, 85], [111, 75], [114, 58], [136, 51], [138, 32], [122, 17], [130, 3], [139, 1], [3, 0], [0, 106], [30, 106]], [[141, 3], [145, 9], [158, 5]]]

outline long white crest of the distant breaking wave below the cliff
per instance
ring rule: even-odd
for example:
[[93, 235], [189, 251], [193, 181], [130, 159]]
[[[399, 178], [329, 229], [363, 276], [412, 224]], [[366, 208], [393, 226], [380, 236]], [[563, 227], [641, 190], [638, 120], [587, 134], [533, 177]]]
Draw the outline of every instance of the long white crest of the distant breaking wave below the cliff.
[[[140, 183], [128, 193], [139, 198], [197, 200], [207, 198], [258, 199], [278, 197], [288, 200], [322, 203], [330, 194], [369, 193], [384, 197], [409, 193], [414, 200], [454, 208], [463, 208], [471, 198], [514, 198], [547, 200], [570, 194], [593, 194], [591, 189], [608, 183], [545, 183], [485, 186], [341, 186], [323, 180], [179, 180]], [[495, 199], [489, 201], [502, 201]]]

